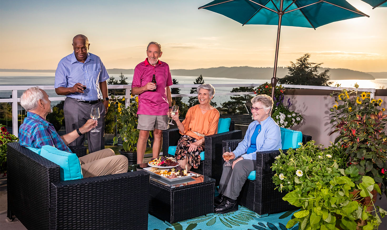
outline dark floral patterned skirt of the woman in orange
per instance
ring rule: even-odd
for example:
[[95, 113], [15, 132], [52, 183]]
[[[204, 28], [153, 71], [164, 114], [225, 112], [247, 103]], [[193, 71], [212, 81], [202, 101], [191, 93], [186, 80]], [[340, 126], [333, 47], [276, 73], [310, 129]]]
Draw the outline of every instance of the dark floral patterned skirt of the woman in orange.
[[197, 142], [198, 140], [188, 135], [183, 135], [177, 142], [175, 158], [176, 160], [184, 160], [188, 157], [188, 164], [197, 169], [200, 165], [200, 152], [204, 151], [204, 143], [199, 145], [196, 151], [188, 152], [189, 144]]

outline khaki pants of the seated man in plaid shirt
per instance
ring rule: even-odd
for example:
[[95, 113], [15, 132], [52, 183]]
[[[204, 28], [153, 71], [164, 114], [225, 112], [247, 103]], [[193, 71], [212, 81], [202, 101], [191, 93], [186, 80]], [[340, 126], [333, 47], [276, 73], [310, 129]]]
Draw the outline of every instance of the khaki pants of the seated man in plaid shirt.
[[128, 172], [128, 158], [115, 155], [111, 149], [89, 153], [79, 161], [84, 178]]

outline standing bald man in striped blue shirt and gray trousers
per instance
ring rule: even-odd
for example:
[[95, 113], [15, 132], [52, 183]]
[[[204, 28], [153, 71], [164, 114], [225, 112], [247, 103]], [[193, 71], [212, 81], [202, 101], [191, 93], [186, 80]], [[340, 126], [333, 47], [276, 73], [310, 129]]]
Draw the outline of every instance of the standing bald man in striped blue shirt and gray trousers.
[[[99, 108], [98, 131], [87, 133], [89, 152], [96, 152], [104, 149], [105, 114], [109, 103], [106, 80], [109, 74], [101, 59], [87, 52], [90, 44], [86, 36], [75, 36], [72, 46], [74, 52], [60, 60], [55, 72], [55, 92], [66, 95], [63, 110], [67, 133], [82, 127], [90, 119], [91, 108]], [[84, 140], [82, 134], [69, 145], [83, 145]]]

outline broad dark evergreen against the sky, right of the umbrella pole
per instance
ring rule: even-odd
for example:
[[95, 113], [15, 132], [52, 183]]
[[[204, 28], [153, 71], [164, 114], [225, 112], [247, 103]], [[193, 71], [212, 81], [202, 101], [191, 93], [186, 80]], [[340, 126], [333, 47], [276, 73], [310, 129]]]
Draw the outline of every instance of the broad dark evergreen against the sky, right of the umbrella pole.
[[288, 66], [289, 74], [278, 79], [280, 84], [289, 85], [318, 85], [329, 86], [329, 69], [319, 73], [321, 64], [308, 61], [310, 54], [304, 54], [301, 58], [296, 59], [296, 63], [292, 61], [291, 66]]

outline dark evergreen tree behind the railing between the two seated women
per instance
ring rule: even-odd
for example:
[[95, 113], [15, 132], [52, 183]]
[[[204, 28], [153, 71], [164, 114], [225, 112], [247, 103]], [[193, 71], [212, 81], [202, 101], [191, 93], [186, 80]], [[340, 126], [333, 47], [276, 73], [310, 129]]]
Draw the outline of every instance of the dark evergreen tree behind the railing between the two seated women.
[[[233, 88], [231, 93], [237, 92], [252, 92], [254, 87], [238, 87]], [[239, 95], [231, 96], [229, 101], [222, 103], [222, 108], [220, 109], [224, 113], [234, 114], [234, 113], [248, 113], [246, 110], [245, 104], [250, 102], [253, 95]]]

